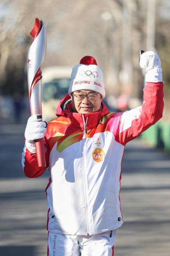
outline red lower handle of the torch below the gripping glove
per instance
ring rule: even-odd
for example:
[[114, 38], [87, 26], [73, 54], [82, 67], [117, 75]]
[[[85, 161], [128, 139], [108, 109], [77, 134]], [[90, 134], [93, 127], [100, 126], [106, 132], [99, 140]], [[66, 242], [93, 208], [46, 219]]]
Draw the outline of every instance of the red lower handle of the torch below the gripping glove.
[[44, 139], [35, 140], [38, 167], [46, 167], [46, 158], [44, 150]]

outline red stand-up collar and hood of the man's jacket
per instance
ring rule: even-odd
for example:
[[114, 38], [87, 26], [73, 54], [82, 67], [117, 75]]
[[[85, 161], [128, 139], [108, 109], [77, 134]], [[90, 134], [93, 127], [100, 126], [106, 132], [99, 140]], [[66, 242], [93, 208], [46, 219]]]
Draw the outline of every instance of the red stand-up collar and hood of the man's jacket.
[[66, 102], [67, 100], [69, 100], [71, 97], [69, 94], [67, 94], [59, 103], [57, 110], [56, 110], [56, 115], [57, 116], [68, 116], [68, 118], [70, 119], [70, 122], [78, 127], [81, 127], [83, 129], [84, 127], [84, 122], [83, 122], [83, 117], [84, 116], [84, 120], [86, 122], [87, 119], [87, 127], [91, 128], [94, 127], [98, 124], [100, 118], [109, 113], [109, 110], [107, 109], [106, 105], [102, 102], [102, 109], [100, 109], [98, 112], [94, 112], [94, 113], [88, 113], [88, 114], [81, 114], [81, 113], [76, 113], [76, 112], [71, 112], [71, 108], [72, 108], [72, 103], [70, 103], [68, 105], [68, 108], [63, 110], [62, 109], [62, 104], [64, 102]]

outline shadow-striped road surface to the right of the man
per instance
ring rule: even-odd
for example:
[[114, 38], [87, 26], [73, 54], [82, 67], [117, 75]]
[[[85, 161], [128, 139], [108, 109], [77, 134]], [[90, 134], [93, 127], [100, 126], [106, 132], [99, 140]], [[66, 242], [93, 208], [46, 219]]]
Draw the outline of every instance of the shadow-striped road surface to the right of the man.
[[114, 256], [169, 256], [170, 156], [138, 139], [127, 144], [120, 197]]

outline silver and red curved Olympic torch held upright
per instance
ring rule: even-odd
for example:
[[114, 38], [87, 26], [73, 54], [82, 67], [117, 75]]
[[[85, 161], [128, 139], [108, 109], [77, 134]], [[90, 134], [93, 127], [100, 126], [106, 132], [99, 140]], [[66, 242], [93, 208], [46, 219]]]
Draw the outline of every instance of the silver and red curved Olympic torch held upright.
[[[35, 19], [35, 24], [30, 32], [33, 37], [32, 44], [28, 51], [28, 90], [30, 98], [31, 115], [40, 115], [37, 118], [42, 120], [41, 108], [41, 65], [46, 56], [46, 29], [43, 20]], [[38, 167], [46, 166], [44, 139], [35, 141]]]

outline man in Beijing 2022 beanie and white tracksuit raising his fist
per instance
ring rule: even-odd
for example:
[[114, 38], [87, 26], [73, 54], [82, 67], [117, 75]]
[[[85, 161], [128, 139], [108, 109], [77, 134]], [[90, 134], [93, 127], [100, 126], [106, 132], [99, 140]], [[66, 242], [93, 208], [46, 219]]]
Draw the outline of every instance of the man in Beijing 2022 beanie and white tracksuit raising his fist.
[[[141, 51], [142, 53], [142, 51]], [[49, 167], [49, 256], [113, 256], [120, 209], [121, 161], [124, 146], [155, 124], [164, 106], [162, 69], [154, 52], [140, 53], [147, 71], [142, 106], [110, 113], [103, 74], [96, 60], [85, 56], [73, 67], [69, 94], [48, 123], [31, 116], [22, 154], [25, 175], [38, 177]], [[46, 167], [37, 167], [35, 139], [43, 138]]]

